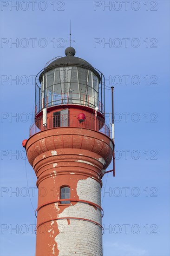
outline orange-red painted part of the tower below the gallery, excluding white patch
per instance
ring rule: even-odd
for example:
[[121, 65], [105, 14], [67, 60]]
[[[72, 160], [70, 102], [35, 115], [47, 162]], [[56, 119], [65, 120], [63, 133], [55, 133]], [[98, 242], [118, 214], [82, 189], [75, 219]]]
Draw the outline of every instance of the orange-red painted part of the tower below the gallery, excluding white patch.
[[[79, 180], [91, 177], [102, 184], [103, 173], [101, 171], [107, 168], [112, 157], [110, 144], [111, 140], [99, 132], [69, 127], [48, 129], [28, 139], [27, 157], [37, 175], [37, 187], [40, 191], [38, 207], [44, 205], [39, 209], [37, 225], [49, 221], [43, 225], [42, 230], [40, 227], [37, 230], [37, 256], [51, 255], [53, 240], [47, 231], [51, 229], [51, 222], [58, 216], [58, 213], [70, 206], [70, 204], [59, 204], [57, 210], [54, 202], [47, 203], [55, 197], [57, 200], [60, 199], [59, 188], [65, 184], [72, 188], [71, 198], [75, 200], [79, 199], [76, 193]], [[100, 158], [105, 159], [105, 166], [99, 162]], [[76, 203], [72, 202], [72, 205]], [[57, 225], [54, 231], [57, 235], [59, 232]], [[47, 244], [49, 247], [46, 247]]]

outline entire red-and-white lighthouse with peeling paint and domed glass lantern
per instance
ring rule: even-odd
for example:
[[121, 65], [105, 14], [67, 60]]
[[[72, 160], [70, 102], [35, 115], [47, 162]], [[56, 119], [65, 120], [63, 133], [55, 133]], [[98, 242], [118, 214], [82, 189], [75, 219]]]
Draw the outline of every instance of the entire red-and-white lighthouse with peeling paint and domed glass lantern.
[[36, 77], [35, 122], [23, 141], [37, 176], [36, 256], [102, 256], [101, 187], [114, 143], [105, 78], [68, 47]]

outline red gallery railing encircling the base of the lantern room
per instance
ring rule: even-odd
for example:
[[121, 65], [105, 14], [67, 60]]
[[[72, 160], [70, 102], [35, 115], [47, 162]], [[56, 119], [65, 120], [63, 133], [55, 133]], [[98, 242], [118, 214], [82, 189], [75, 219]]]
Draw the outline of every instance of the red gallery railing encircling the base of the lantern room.
[[30, 136], [51, 128], [57, 127], [79, 127], [96, 130], [110, 137], [110, 129], [105, 124], [105, 120], [94, 115], [86, 116], [85, 121], [79, 123], [77, 115], [51, 115], [47, 118], [46, 126], [43, 126], [42, 116], [35, 120], [35, 123], [30, 127]]

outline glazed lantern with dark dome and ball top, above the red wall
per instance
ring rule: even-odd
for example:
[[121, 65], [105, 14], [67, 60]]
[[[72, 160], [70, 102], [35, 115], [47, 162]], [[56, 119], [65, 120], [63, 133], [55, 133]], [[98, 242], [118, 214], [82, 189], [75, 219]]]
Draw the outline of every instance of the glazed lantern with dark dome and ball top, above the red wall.
[[37, 75], [35, 114], [58, 105], [98, 107], [104, 113], [103, 74], [87, 61], [75, 57], [74, 48], [66, 48], [65, 55]]

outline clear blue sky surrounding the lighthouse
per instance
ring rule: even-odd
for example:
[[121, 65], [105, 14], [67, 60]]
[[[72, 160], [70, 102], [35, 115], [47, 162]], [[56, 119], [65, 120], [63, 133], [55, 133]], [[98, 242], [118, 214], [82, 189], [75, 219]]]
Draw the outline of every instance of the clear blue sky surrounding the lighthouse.
[[32, 207], [23, 188], [35, 188], [36, 177], [21, 143], [32, 122], [32, 77], [64, 56], [71, 19], [76, 56], [115, 87], [116, 177], [103, 178], [104, 256], [169, 256], [169, 1], [34, 4], [1, 1], [1, 255], [35, 253], [37, 190], [29, 189]]

